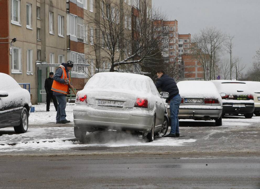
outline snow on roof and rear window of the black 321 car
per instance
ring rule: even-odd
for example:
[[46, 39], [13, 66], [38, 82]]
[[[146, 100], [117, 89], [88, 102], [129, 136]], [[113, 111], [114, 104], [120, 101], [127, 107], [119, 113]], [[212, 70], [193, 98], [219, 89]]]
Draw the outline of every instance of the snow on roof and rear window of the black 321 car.
[[218, 92], [229, 93], [232, 95], [248, 95], [250, 90], [244, 81], [237, 80], [212, 80], [218, 89]]

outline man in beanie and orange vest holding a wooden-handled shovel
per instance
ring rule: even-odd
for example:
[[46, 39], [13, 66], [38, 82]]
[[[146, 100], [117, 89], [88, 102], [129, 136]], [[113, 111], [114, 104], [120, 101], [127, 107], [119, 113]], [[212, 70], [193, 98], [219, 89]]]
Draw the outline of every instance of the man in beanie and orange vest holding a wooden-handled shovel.
[[67, 63], [62, 63], [57, 68], [55, 75], [53, 77], [54, 81], [52, 83], [51, 90], [53, 91], [53, 95], [55, 95], [58, 100], [56, 124], [71, 122], [66, 119], [67, 115], [65, 112], [65, 108], [67, 104], [66, 96], [69, 94], [69, 82], [71, 82], [69, 70], [71, 70], [72, 67], [73, 67], [72, 61], [67, 61]]

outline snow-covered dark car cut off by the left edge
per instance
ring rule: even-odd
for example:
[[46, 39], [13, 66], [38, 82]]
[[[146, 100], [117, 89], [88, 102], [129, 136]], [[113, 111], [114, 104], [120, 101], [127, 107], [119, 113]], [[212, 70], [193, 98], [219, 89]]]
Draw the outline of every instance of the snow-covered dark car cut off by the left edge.
[[30, 93], [7, 74], [0, 73], [0, 80], [0, 128], [14, 127], [16, 133], [25, 133], [32, 106]]

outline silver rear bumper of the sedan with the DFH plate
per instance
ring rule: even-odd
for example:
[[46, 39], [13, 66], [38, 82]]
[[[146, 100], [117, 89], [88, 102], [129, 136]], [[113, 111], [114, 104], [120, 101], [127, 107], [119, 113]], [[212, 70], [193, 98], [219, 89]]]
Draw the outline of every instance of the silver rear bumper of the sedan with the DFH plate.
[[127, 129], [149, 132], [153, 113], [142, 109], [131, 111], [100, 110], [76, 105], [73, 109], [74, 126], [78, 128]]

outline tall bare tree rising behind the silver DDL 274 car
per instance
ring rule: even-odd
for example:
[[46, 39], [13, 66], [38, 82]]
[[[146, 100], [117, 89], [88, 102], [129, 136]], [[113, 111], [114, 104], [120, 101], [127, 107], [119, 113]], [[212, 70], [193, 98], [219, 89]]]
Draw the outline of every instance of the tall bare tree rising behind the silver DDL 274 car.
[[225, 34], [215, 27], [202, 29], [199, 34], [193, 37], [192, 52], [194, 58], [198, 59], [204, 68], [204, 79], [215, 79], [215, 65], [219, 53], [222, 51], [222, 44]]

